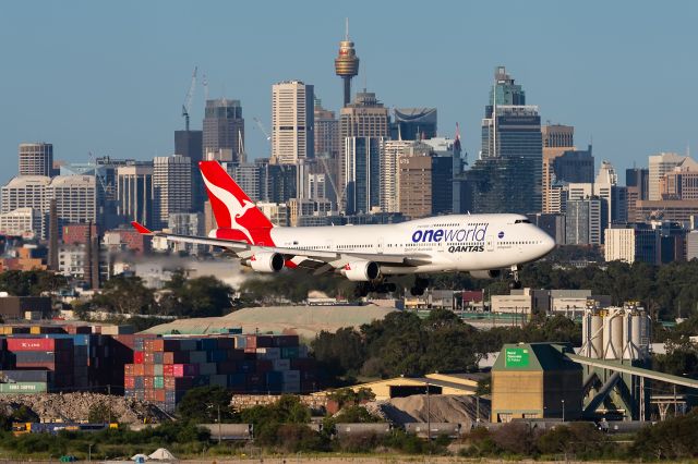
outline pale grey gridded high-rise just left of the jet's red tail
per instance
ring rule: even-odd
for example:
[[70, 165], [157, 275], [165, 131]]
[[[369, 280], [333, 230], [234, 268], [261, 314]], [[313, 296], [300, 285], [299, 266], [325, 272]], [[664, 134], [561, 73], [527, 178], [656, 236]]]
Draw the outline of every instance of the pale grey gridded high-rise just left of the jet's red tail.
[[192, 161], [181, 155], [153, 159], [153, 222], [156, 229], [168, 227], [173, 212], [191, 212]]

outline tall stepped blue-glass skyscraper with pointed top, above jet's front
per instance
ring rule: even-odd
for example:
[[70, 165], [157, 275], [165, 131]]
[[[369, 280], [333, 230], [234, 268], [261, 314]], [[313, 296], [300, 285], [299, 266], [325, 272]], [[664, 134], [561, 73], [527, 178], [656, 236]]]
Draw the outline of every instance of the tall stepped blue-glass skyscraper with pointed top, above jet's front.
[[542, 190], [542, 138], [538, 107], [506, 73], [495, 71], [482, 120], [482, 148], [467, 178], [477, 212], [539, 212]]

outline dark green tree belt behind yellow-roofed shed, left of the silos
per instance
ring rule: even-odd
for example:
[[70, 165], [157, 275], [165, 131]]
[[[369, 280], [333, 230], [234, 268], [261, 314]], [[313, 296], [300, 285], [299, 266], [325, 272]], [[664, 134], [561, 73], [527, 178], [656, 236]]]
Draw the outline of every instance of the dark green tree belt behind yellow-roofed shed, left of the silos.
[[569, 341], [579, 344], [581, 328], [557, 316], [538, 318], [520, 327], [486, 331], [469, 326], [449, 310], [436, 309], [425, 318], [395, 312], [359, 330], [321, 332], [311, 343], [321, 371], [340, 377], [418, 376], [434, 371], [474, 370], [488, 353], [503, 343]]

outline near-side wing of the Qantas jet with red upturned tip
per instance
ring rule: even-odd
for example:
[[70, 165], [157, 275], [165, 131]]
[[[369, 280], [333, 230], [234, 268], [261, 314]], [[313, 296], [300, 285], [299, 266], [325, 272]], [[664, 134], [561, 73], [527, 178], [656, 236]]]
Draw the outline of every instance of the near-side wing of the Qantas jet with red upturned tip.
[[169, 242], [193, 243], [197, 245], [210, 245], [226, 248], [239, 258], [245, 259], [257, 253], [279, 253], [287, 260], [292, 260], [299, 268], [313, 270], [314, 273], [323, 273], [325, 271], [341, 269], [348, 262], [356, 260], [374, 261], [378, 265], [385, 264], [390, 266], [419, 266], [431, 264], [429, 255], [385, 255], [382, 253], [337, 253], [322, 252], [316, 249], [298, 249], [285, 248], [280, 246], [263, 246], [251, 245], [242, 241], [231, 241], [222, 239], [209, 239], [205, 236], [179, 235], [166, 232], [153, 232], [137, 222], [132, 225], [142, 234], [159, 236]]

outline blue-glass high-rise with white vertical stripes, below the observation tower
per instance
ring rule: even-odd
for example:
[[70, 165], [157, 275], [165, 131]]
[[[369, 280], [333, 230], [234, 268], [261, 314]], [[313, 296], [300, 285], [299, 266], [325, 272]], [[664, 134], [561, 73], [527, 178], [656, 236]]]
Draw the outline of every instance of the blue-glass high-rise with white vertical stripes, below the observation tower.
[[346, 212], [370, 212], [381, 206], [381, 139], [345, 138]]

